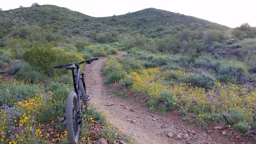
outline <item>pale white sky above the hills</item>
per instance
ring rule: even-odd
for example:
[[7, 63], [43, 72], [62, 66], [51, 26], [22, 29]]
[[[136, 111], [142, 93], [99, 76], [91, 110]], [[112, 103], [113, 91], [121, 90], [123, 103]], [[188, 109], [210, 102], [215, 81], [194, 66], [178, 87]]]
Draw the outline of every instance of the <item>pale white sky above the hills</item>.
[[9, 10], [20, 5], [29, 7], [33, 3], [66, 7], [93, 17], [121, 15], [145, 8], [156, 8], [179, 12], [231, 28], [246, 22], [256, 27], [255, 0], [1, 0], [0, 7]]

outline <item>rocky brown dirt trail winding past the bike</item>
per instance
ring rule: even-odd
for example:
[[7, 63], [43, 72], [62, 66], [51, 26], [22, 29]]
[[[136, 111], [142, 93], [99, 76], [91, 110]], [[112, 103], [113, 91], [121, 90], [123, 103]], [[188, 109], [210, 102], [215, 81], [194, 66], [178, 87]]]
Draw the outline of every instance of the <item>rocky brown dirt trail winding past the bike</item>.
[[[118, 52], [120, 56], [126, 52]], [[91, 103], [97, 103], [100, 111], [108, 112], [108, 120], [116, 128], [120, 128], [125, 135], [133, 135], [134, 144], [240, 144], [235, 139], [223, 137], [220, 132], [207, 133], [200, 130], [196, 125], [186, 124], [181, 121], [177, 111], [172, 111], [166, 115], [157, 112], [152, 113], [148, 108], [141, 107], [140, 103], [132, 102], [129, 99], [121, 99], [110, 94], [111, 88], [103, 84], [104, 76], [101, 68], [107, 58], [100, 58], [86, 65], [84, 72], [90, 71], [86, 75], [87, 92], [91, 95]], [[107, 104], [113, 103], [113, 106]], [[128, 109], [124, 109], [128, 107]], [[134, 112], [130, 110], [132, 108]], [[154, 116], [154, 117], [153, 117]], [[159, 118], [156, 121], [153, 118]], [[134, 120], [134, 121], [133, 121]], [[187, 139], [175, 140], [179, 133], [186, 130], [193, 130], [195, 134], [190, 134]], [[167, 133], [174, 132], [173, 138], [169, 138]], [[184, 134], [184, 133], [183, 133]]]

